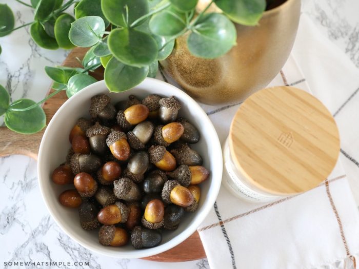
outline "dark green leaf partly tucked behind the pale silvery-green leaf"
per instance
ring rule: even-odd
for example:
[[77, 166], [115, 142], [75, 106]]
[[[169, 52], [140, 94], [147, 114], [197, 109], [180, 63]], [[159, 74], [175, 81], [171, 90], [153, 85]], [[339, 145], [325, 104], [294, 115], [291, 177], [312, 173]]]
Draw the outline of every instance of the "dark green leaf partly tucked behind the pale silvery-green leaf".
[[75, 18], [69, 14], [62, 14], [56, 19], [54, 31], [57, 44], [60, 48], [72, 49], [75, 47], [69, 38], [71, 24], [74, 21]]

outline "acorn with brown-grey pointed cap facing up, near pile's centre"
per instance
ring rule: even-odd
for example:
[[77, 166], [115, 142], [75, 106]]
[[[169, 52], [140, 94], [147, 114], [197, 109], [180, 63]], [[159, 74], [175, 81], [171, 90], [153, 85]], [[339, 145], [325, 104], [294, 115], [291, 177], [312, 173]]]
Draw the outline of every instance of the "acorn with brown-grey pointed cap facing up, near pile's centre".
[[125, 177], [113, 181], [113, 192], [118, 199], [127, 202], [141, 200], [141, 192], [138, 186], [131, 179]]

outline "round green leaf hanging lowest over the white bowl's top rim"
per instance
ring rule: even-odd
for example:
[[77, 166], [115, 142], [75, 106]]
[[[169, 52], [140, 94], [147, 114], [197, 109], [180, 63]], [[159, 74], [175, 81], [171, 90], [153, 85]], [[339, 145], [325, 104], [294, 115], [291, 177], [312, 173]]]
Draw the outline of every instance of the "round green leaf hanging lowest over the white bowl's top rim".
[[105, 69], [105, 82], [110, 92], [123, 92], [140, 84], [148, 74], [148, 66], [127, 66], [112, 57]]

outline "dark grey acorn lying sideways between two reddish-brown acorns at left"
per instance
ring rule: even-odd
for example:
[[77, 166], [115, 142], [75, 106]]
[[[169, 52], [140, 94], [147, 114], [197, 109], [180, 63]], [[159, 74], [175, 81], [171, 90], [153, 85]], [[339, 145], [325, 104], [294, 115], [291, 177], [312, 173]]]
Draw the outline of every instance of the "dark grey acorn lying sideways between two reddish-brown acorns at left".
[[80, 154], [75, 153], [71, 157], [71, 170], [73, 174], [80, 172], [94, 173], [101, 167], [102, 161], [95, 154]]

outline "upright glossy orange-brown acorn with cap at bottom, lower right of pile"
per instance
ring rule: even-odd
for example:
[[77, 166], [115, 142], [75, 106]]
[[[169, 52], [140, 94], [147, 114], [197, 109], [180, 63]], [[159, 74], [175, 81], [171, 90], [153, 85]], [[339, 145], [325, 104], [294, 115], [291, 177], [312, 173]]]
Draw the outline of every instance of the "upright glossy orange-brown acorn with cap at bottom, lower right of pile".
[[165, 205], [159, 199], [153, 199], [146, 205], [145, 213], [142, 217], [142, 225], [148, 229], [159, 229], [163, 226], [163, 216]]

